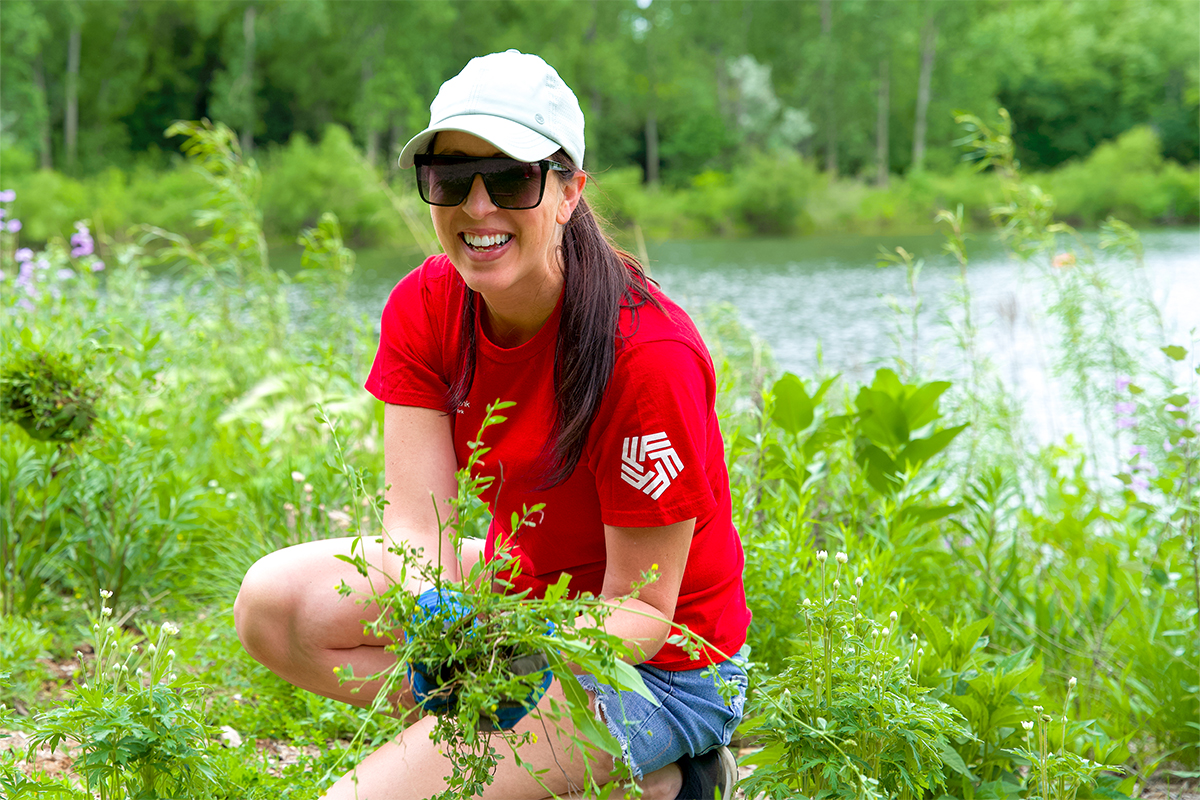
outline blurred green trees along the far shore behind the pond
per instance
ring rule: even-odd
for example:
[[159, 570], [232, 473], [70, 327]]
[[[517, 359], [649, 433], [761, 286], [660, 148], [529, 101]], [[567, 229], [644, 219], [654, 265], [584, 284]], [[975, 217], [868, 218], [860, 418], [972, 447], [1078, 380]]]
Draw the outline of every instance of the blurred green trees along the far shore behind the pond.
[[[588, 168], [614, 188], [604, 210], [650, 234], [841, 224], [822, 209], [862, 229], [928, 224], [934, 197], [985, 209], [983, 184], [940, 176], [961, 160], [953, 112], [1001, 107], [1025, 168], [1075, 168], [1063, 197], [1092, 196], [1103, 176], [1088, 160], [1127, 134], [1166, 198], [1134, 221], [1195, 216], [1200, 6], [1186, 0], [5, 0], [0, 37], [0, 178], [25, 201], [53, 198], [24, 210], [34, 237], [72, 213], [133, 219], [133, 206], [102, 207], [118, 194], [169, 205], [167, 185], [188, 185], [166, 176], [179, 156], [163, 131], [181, 119], [238, 131], [268, 198], [326, 188], [271, 187], [276, 168], [302, 176], [314, 152], [337, 158], [313, 174], [344, 174], [359, 156], [390, 173], [442, 82], [506, 48], [542, 55], [576, 90]], [[748, 170], [772, 162], [830, 199], [731, 213], [762, 190]], [[1061, 211], [1086, 223], [1115, 203]], [[268, 225], [312, 224], [318, 205], [269, 207]], [[343, 222], [360, 243], [394, 227]]]

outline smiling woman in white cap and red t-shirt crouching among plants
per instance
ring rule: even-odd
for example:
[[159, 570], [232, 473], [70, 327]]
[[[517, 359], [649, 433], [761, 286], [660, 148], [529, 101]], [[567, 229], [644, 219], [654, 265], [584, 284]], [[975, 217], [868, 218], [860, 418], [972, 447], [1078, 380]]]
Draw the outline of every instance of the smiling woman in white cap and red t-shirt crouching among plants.
[[[613, 248], [584, 203], [583, 114], [552, 67], [516, 50], [474, 59], [430, 110], [430, 126], [400, 163], [416, 167], [445, 254], [392, 291], [366, 383], [386, 403], [389, 489], [377, 565], [396, 575], [386, 546], [400, 543], [442, 553], [445, 573], [460, 579], [509, 542], [522, 567], [516, 590], [536, 595], [566, 572], [572, 591], [602, 595], [616, 607], [607, 630], [641, 654], [637, 668], [660, 703], [618, 697], [589, 675], [578, 680], [644, 796], [732, 796], [736, 765], [725, 745], [742, 716], [750, 612], [712, 360], [686, 315]], [[497, 480], [484, 499], [493, 522], [486, 545], [468, 540], [460, 561], [439, 547], [438, 516], [446, 518], [455, 470], [498, 398], [516, 405], [487, 432], [482, 471]], [[536, 527], [509, 541], [511, 512], [539, 503]], [[386, 642], [364, 634], [362, 607], [335, 591], [342, 581], [367, 589], [334, 558], [348, 549], [349, 540], [334, 540], [264, 558], [242, 583], [235, 616], [247, 651], [277, 674], [365, 704], [378, 686], [352, 694], [334, 668], [373, 674], [392, 660]], [[652, 570], [659, 579], [630, 596]], [[691, 661], [666, 643], [672, 622], [713, 649]], [[709, 662], [742, 692], [728, 704], [701, 674]], [[547, 694], [562, 699], [557, 680]], [[408, 687], [401, 702], [414, 704]], [[515, 730], [541, 732], [535, 717]], [[432, 717], [419, 720], [326, 796], [442, 790], [449, 765], [431, 727]], [[564, 753], [556, 736], [522, 746], [521, 757], [545, 770], [541, 781], [556, 795], [582, 783], [583, 757]], [[587, 758], [596, 775], [612, 770], [602, 753]], [[484, 796], [545, 795], [504, 759]]]

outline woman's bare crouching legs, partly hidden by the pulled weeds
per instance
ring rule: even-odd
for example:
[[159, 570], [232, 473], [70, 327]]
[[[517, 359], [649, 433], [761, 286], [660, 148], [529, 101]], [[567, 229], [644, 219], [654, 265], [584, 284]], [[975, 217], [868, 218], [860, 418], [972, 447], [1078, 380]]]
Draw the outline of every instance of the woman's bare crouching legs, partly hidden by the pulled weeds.
[[[254, 564], [242, 581], [234, 603], [238, 636], [257, 661], [284, 680], [308, 691], [355, 705], [370, 705], [379, 691], [379, 682], [340, 684], [335, 667], [350, 664], [355, 675], [378, 673], [395, 663], [389, 644], [362, 630], [362, 620], [374, 619], [379, 609], [364, 603], [370, 596], [370, 582], [353, 566], [335, 558], [349, 554], [355, 540], [335, 539], [296, 545], [271, 553]], [[368, 563], [378, 564], [382, 548], [370, 539], [366, 545]], [[377, 552], [379, 551], [379, 552]], [[463, 572], [480, 558], [481, 545], [464, 542]], [[370, 573], [371, 582], [382, 587], [382, 575]], [[352, 589], [343, 597], [337, 588], [344, 582]], [[562, 688], [556, 680], [539, 704], [548, 708], [548, 698], [563, 703]], [[407, 682], [401, 697], [395, 698], [406, 708], [413, 705]], [[444, 788], [444, 776], [450, 774], [450, 762], [430, 740], [434, 720], [415, 721], [392, 742], [368, 756], [356, 770], [344, 776], [326, 798], [342, 800], [389, 800], [391, 798], [427, 798]], [[570, 729], [570, 723], [563, 721]], [[583, 788], [586, 764], [576, 747], [569, 747], [570, 734], [558, 729], [551, 720], [533, 715], [522, 720], [517, 732], [530, 730], [536, 742], [521, 748], [521, 758], [534, 770], [548, 770], [542, 776], [550, 792], [557, 795], [578, 794]], [[485, 798], [521, 798], [534, 800], [547, 796], [538, 781], [523, 766], [514, 763], [503, 742], [497, 750], [505, 754], [497, 769], [494, 782]], [[593, 774], [604, 781], [611, 774], [608, 756], [594, 752]], [[358, 783], [355, 784], [355, 780]], [[647, 800], [672, 800], [679, 790], [678, 768], [673, 764], [643, 778]]]

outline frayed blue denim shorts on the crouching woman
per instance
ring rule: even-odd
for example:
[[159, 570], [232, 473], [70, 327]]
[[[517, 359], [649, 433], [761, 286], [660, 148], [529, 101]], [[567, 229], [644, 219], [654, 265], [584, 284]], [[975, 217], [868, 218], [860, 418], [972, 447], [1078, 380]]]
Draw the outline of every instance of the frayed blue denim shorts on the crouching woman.
[[662, 769], [684, 756], [700, 756], [730, 744], [742, 722], [746, 700], [744, 664], [750, 646], [716, 666], [720, 675], [737, 687], [738, 693], [726, 704], [708, 669], [667, 672], [637, 664], [646, 687], [658, 699], [654, 705], [637, 692], [618, 691], [601, 684], [594, 675], [576, 675], [580, 685], [595, 694], [596, 718], [620, 742], [625, 762], [635, 778]]

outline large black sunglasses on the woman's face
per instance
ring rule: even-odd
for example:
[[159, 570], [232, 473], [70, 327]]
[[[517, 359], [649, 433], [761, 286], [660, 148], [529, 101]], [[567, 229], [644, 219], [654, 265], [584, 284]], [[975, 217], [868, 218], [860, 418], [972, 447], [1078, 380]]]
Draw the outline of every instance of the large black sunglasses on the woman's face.
[[430, 205], [460, 205], [470, 194], [475, 175], [484, 179], [487, 197], [498, 209], [535, 209], [546, 192], [546, 175], [569, 173], [556, 161], [524, 162], [515, 158], [439, 156], [418, 154], [416, 191]]

